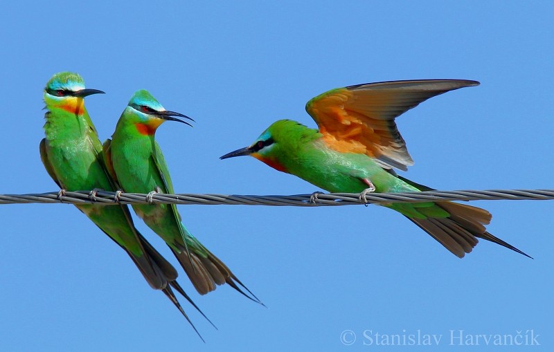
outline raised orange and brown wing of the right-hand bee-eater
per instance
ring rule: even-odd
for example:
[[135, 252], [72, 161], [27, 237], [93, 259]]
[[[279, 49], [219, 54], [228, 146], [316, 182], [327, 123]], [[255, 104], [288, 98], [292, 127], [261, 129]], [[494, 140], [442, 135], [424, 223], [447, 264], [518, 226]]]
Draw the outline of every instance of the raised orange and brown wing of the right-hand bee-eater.
[[415, 80], [359, 84], [313, 98], [306, 111], [325, 142], [340, 151], [367, 154], [385, 168], [406, 170], [413, 160], [395, 118], [436, 95], [477, 86], [468, 80]]

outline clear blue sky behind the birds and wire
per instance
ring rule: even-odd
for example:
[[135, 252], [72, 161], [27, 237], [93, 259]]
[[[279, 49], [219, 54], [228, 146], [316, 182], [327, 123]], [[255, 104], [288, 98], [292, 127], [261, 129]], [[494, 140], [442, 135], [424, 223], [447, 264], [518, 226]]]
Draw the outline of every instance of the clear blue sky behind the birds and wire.
[[[193, 129], [168, 123], [157, 133], [179, 193], [314, 192], [253, 158], [218, 157], [280, 118], [314, 127], [305, 102], [328, 89], [428, 78], [481, 86], [397, 120], [415, 160], [404, 176], [438, 189], [553, 188], [551, 1], [9, 1], [2, 8], [2, 194], [57, 190], [38, 145], [42, 89], [59, 71], [78, 72], [107, 93], [87, 98], [101, 140], [137, 89], [195, 118]], [[188, 229], [268, 307], [229, 287], [199, 297], [181, 270], [181, 283], [219, 328], [183, 302], [206, 344], [73, 206], [2, 205], [0, 350], [367, 351], [375, 345], [364, 345], [364, 331], [419, 330], [443, 335], [443, 351], [464, 351], [449, 346], [449, 331], [460, 329], [533, 329], [551, 349], [553, 203], [472, 204], [494, 214], [490, 232], [535, 259], [485, 241], [457, 259], [376, 206], [179, 206]], [[346, 330], [355, 333], [346, 336], [350, 346], [341, 342]]]

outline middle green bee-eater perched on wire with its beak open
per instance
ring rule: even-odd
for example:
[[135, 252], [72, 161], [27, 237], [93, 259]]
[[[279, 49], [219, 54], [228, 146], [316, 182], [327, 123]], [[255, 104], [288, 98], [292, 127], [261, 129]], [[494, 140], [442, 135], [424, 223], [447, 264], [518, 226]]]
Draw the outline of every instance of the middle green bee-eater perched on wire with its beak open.
[[[175, 116], [192, 120], [164, 109], [148, 91], [134, 93], [119, 118], [112, 139], [104, 143], [108, 169], [125, 192], [174, 192], [166, 160], [154, 140], [154, 133], [166, 121], [188, 124]], [[260, 302], [220, 259], [186, 230], [175, 204], [133, 205], [133, 208], [146, 225], [166, 241], [201, 295], [215, 290], [216, 284], [227, 283], [249, 297], [237, 286], [239, 284], [252, 295], [250, 299]]]

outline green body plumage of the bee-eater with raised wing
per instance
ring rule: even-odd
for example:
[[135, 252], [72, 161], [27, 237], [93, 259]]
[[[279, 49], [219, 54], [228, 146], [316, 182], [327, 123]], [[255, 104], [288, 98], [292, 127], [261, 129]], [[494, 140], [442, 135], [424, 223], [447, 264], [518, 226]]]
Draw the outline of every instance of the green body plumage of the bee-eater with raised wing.
[[[271, 136], [274, 142], [258, 153], [261, 159], [278, 160], [286, 172], [296, 175], [328, 192], [359, 193], [368, 188], [364, 179], [371, 180], [375, 192], [418, 192], [419, 189], [405, 183], [383, 169], [365, 154], [343, 153], [331, 149], [323, 142], [322, 135], [292, 120], [279, 120], [258, 138]], [[386, 205], [402, 214], [427, 219], [447, 217], [448, 212], [434, 203], [391, 203]]]

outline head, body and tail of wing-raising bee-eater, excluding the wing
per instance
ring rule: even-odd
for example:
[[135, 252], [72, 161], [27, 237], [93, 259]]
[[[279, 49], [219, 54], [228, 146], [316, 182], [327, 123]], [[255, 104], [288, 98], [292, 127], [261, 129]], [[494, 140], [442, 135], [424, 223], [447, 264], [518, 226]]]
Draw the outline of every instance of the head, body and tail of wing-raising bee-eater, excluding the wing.
[[[251, 146], [222, 158], [244, 155], [251, 155], [328, 192], [360, 193], [368, 189], [368, 185], [375, 187], [374, 192], [419, 192], [420, 188], [428, 189], [397, 176], [392, 169], [385, 169], [382, 163], [377, 163], [366, 154], [334, 149], [319, 131], [292, 120], [274, 122]], [[490, 221], [490, 213], [478, 207], [452, 202], [382, 205], [406, 216], [458, 257], [471, 252], [478, 242], [476, 237], [527, 255], [486, 232], [483, 224]]]

